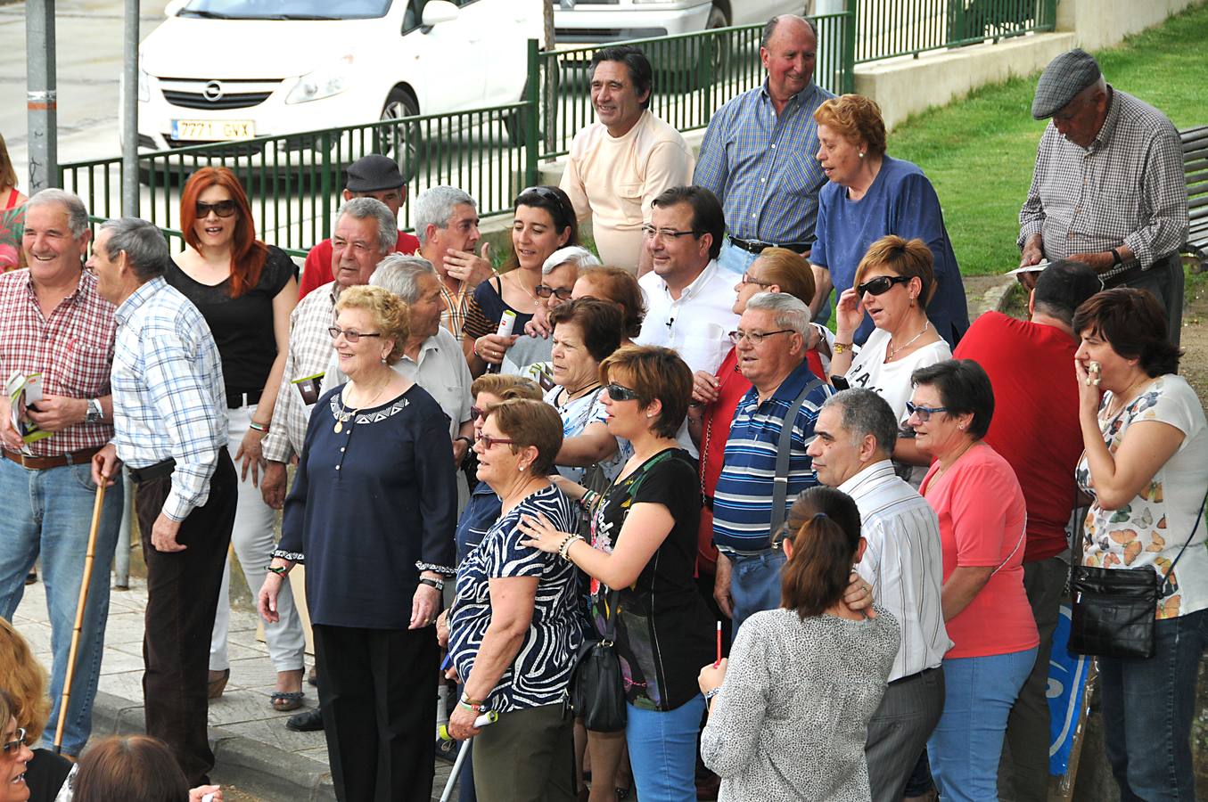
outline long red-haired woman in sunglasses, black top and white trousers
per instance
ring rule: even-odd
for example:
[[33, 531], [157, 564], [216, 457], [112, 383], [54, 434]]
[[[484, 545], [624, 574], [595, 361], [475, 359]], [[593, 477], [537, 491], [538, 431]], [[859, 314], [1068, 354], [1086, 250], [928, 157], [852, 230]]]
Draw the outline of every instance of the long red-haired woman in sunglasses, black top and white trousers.
[[[265, 467], [261, 441], [285, 370], [290, 313], [297, 304], [297, 267], [279, 248], [256, 239], [251, 207], [239, 180], [225, 167], [193, 173], [180, 197], [180, 227], [187, 248], [167, 266], [164, 278], [205, 318], [222, 358], [231, 458], [239, 466], [239, 502], [231, 545], [248, 587], [260, 587], [273, 551], [275, 513], [259, 490]], [[231, 562], [222, 575], [210, 639], [210, 698], [222, 695], [231, 676], [227, 627]], [[302, 621], [286, 592], [280, 621], [265, 627], [277, 669], [273, 709], [302, 707]]]

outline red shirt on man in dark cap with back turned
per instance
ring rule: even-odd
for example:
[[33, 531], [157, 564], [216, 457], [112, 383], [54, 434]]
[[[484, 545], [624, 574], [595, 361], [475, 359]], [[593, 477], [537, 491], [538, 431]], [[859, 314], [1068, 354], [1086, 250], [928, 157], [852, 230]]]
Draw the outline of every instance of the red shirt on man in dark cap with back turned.
[[994, 388], [994, 418], [986, 442], [1015, 469], [1028, 502], [1024, 562], [1065, 551], [1074, 508], [1074, 467], [1082, 454], [1078, 423], [1078, 343], [1055, 326], [987, 312], [953, 354], [971, 359]]

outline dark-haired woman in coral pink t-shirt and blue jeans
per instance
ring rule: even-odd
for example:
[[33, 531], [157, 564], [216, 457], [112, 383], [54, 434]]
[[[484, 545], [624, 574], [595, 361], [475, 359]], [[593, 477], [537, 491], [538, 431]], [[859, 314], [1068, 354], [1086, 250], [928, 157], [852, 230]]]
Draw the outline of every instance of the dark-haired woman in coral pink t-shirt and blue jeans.
[[1006, 717], [1040, 643], [1023, 589], [1023, 492], [1011, 464], [982, 440], [994, 391], [977, 362], [920, 367], [911, 382], [908, 423], [935, 460], [919, 489], [940, 519], [940, 606], [954, 644], [928, 757], [945, 800], [998, 800]]

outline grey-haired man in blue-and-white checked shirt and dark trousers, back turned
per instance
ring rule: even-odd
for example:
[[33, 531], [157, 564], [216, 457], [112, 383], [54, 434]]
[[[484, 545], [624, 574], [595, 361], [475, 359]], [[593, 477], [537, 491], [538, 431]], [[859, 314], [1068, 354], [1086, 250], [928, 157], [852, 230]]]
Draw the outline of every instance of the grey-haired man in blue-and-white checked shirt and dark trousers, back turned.
[[168, 286], [172, 258], [145, 220], [103, 223], [88, 267], [117, 310], [114, 440], [93, 481], [126, 463], [147, 565], [143, 675], [147, 734], [165, 742], [191, 786], [209, 783], [207, 669], [237, 478], [226, 449], [222, 365], [205, 319]]

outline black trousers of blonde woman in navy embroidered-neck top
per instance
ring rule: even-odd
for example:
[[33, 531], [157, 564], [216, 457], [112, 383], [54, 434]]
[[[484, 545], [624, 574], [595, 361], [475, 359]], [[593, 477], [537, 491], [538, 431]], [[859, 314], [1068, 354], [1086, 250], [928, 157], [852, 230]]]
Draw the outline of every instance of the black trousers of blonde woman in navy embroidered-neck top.
[[440, 668], [435, 629], [314, 624], [314, 662], [336, 798], [430, 800]]

